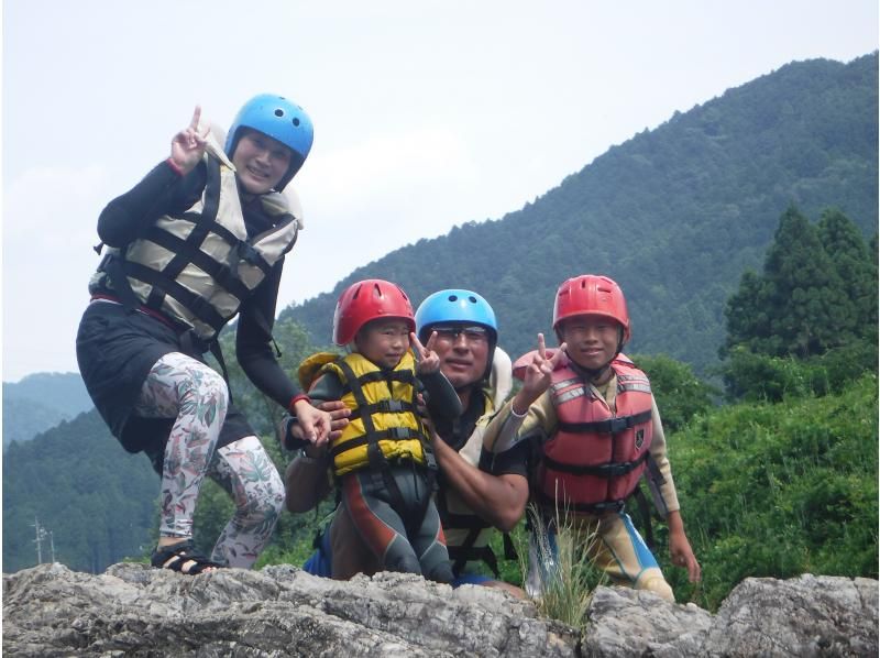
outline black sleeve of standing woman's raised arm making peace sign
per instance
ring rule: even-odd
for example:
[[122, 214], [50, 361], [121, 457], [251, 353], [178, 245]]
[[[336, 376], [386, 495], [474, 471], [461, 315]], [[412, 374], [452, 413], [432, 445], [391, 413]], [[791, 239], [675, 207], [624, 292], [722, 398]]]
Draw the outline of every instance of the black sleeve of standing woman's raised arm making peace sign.
[[107, 205], [98, 218], [98, 237], [109, 246], [125, 246], [161, 216], [195, 204], [205, 180], [204, 164], [180, 177], [167, 162], [160, 163], [138, 185]]

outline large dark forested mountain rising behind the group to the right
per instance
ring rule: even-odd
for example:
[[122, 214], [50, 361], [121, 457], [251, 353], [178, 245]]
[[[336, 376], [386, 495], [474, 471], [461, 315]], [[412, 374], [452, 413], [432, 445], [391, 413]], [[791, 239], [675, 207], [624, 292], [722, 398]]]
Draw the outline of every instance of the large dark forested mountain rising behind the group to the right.
[[355, 270], [293, 316], [329, 342], [339, 293], [380, 277], [415, 304], [442, 287], [482, 293], [514, 354], [550, 331], [557, 286], [607, 274], [629, 300], [631, 351], [698, 372], [717, 362], [724, 304], [757, 268], [794, 204], [836, 207], [870, 238], [878, 221], [878, 55], [789, 64], [612, 147], [497, 221], [469, 222]]

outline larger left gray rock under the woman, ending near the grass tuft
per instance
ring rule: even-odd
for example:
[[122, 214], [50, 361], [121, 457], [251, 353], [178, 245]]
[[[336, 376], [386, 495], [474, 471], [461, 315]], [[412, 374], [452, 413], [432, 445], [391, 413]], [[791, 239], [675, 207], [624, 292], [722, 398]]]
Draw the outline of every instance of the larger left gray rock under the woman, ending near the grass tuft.
[[3, 575], [9, 656], [576, 656], [578, 633], [490, 588], [294, 567], [186, 577], [42, 564]]

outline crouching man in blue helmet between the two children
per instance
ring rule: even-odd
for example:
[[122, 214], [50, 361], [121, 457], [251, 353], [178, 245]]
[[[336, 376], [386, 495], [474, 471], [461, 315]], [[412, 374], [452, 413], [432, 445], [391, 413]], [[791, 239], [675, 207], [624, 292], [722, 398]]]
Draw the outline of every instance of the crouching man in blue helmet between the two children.
[[[416, 310], [416, 331], [426, 343], [433, 337], [440, 370], [464, 409], [454, 420], [438, 421], [432, 441], [439, 467], [437, 507], [455, 577], [452, 584], [502, 586], [521, 596], [521, 590], [498, 580], [497, 559], [488, 547], [495, 528], [507, 531], [517, 524], [528, 498], [525, 451], [495, 458], [482, 451], [483, 431], [512, 384], [510, 359], [497, 348], [495, 312], [476, 293], [440, 290]], [[284, 426], [285, 442], [290, 445], [292, 435], [298, 431]], [[290, 512], [307, 512], [329, 493], [328, 467], [326, 450], [311, 446], [288, 465], [285, 482]], [[495, 579], [479, 572], [481, 562]], [[374, 573], [381, 564], [340, 508], [324, 535], [323, 550], [312, 556], [307, 570], [348, 579], [359, 572]]]

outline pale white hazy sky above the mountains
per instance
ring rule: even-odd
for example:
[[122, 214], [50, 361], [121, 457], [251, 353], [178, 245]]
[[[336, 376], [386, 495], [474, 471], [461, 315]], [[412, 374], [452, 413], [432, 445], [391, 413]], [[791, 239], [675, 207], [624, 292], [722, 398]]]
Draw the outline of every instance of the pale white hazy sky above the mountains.
[[4, 0], [2, 18], [7, 382], [77, 370], [98, 215], [196, 103], [226, 128], [268, 91], [315, 122], [280, 309], [521, 208], [675, 110], [878, 47], [876, 0]]

